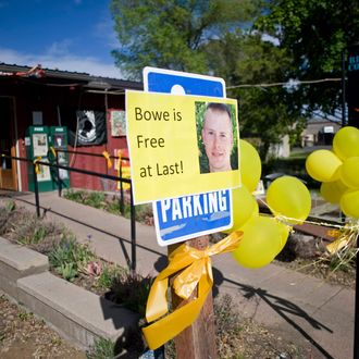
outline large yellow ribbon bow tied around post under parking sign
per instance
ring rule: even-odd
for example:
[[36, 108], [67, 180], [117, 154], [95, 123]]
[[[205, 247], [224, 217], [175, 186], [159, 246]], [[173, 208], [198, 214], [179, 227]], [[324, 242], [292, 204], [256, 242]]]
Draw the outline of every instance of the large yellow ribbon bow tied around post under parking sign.
[[[213, 285], [211, 256], [235, 250], [242, 237], [243, 232], [237, 231], [205, 250], [184, 244], [170, 255], [170, 263], [154, 280], [147, 300], [147, 322], [159, 319], [143, 329], [150, 349], [157, 349], [196, 321]], [[198, 285], [197, 296], [161, 318], [169, 311], [166, 299], [169, 277], [181, 270], [183, 271], [173, 282], [176, 295], [189, 299]]]

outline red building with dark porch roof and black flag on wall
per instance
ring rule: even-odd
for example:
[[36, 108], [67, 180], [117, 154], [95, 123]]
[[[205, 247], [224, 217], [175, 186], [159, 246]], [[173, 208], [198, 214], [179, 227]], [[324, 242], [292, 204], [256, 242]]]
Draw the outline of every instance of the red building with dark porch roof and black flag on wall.
[[[126, 148], [121, 128], [125, 90], [143, 84], [86, 73], [0, 63], [0, 151], [26, 157], [29, 126], [66, 126], [71, 150], [115, 154]], [[119, 121], [120, 119], [120, 121]], [[41, 145], [39, 141], [38, 145]], [[71, 156], [73, 166], [115, 174], [103, 158]], [[28, 164], [0, 157], [0, 188], [28, 189]], [[99, 178], [71, 173], [71, 186], [101, 188]]]

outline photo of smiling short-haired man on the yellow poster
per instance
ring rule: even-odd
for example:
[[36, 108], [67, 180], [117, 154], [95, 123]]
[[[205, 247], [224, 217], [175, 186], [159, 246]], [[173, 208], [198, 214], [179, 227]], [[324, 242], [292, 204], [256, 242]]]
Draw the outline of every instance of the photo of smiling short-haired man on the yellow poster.
[[197, 121], [198, 137], [201, 139], [200, 173], [237, 170], [237, 144], [234, 136], [236, 123], [233, 121], [233, 109], [225, 103], [198, 103], [198, 117], [199, 112], [202, 112], [202, 121]]

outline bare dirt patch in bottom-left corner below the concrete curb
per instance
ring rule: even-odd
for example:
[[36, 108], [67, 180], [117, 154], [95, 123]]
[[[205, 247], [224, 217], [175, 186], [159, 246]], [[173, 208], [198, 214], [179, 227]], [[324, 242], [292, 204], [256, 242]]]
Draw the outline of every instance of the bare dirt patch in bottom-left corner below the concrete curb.
[[86, 354], [62, 339], [42, 320], [0, 296], [2, 359], [85, 359]]

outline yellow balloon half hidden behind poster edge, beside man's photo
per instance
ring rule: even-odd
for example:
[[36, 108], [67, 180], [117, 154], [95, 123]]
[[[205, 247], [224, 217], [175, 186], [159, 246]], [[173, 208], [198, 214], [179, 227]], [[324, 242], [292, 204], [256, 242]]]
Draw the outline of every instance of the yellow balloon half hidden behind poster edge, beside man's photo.
[[252, 193], [262, 173], [262, 163], [256, 148], [248, 141], [239, 140], [242, 183]]

